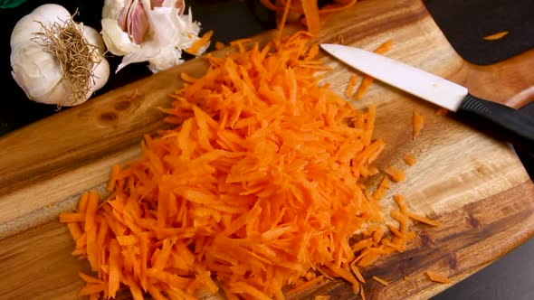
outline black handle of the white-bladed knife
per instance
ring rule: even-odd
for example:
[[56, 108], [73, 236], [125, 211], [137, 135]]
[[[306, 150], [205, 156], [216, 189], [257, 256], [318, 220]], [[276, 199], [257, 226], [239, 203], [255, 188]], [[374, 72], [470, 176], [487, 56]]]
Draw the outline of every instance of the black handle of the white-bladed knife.
[[533, 117], [500, 103], [476, 98], [471, 94], [463, 98], [456, 114], [462, 118], [462, 122], [522, 150], [534, 153]]

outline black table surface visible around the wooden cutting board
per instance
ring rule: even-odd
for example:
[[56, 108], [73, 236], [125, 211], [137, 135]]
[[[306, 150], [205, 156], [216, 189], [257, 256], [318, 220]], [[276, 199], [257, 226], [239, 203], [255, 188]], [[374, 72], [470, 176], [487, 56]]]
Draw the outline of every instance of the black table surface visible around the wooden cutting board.
[[[56, 112], [55, 106], [43, 105], [28, 100], [22, 89], [15, 84], [10, 74], [9, 38], [14, 23], [23, 17], [24, 14], [29, 14], [35, 7], [45, 3], [63, 5], [72, 13], [78, 8], [80, 15], [75, 20], [100, 30], [100, 12], [103, 0], [28, 0], [24, 5], [14, 9], [0, 9], [0, 19], [3, 23], [7, 24], [5, 29], [0, 31], [0, 50], [4, 54], [0, 60], [0, 78], [3, 82], [2, 96], [0, 97], [2, 98], [0, 100], [0, 136], [19, 127], [24, 127], [24, 125], [43, 117], [51, 116]], [[192, 4], [195, 20], [200, 21], [202, 27], [206, 30], [215, 30], [213, 44], [216, 41], [230, 42], [273, 28], [272, 14], [266, 13], [262, 6], [259, 5], [259, 0], [191, 0], [189, 3]], [[503, 4], [512, 6], [510, 8], [511, 11], [517, 13], [518, 10], [513, 8], [514, 5], [518, 3], [534, 5], [534, 1], [427, 0], [425, 4], [428, 5], [434, 18], [436, 18], [436, 23], [440, 25], [443, 33], [447, 35], [448, 40], [453, 44], [454, 49], [464, 59], [470, 61], [474, 57], [475, 61], [472, 62], [478, 60], [479, 62], [482, 61], [481, 63], [491, 63], [496, 60], [506, 59], [534, 45], [534, 34], [531, 34], [530, 39], [526, 41], [513, 44], [513, 46], [507, 45], [499, 48], [501, 49], [499, 53], [481, 50], [481, 48], [477, 48], [479, 46], [473, 45], [472, 43], [471, 45], [462, 46], [462, 42], [469, 43], [470, 41], [474, 41], [476, 43], [478, 40], [475, 37], [480, 39], [482, 36], [501, 31], [504, 21], [502, 18], [485, 17], [482, 19], [479, 18], [478, 23], [469, 22], [468, 19], [465, 19], [470, 17], [469, 14], [458, 13], [457, 8], [460, 6], [456, 4], [461, 3], [463, 6], [471, 5], [470, 7], [478, 4], [480, 5], [478, 10], [482, 12], [481, 15], [487, 16], [502, 13], [494, 10], [495, 5], [501, 5], [499, 6], [501, 9], [504, 7]], [[493, 6], [491, 5], [492, 3]], [[532, 14], [532, 11], [529, 14]], [[464, 19], [460, 18], [461, 15]], [[458, 26], [459, 23], [469, 24], [472, 27], [469, 33], [466, 30], [457, 30], [460, 28]], [[524, 26], [530, 26], [529, 28], [531, 28], [532, 23], [531, 21], [518, 19], [516, 14], [513, 26], [515, 26], [513, 28], [523, 28]], [[465, 25], [463, 27], [466, 28]], [[512, 27], [508, 26], [507, 28]], [[529, 33], [529, 30], [523, 30], [522, 33]], [[500, 43], [494, 42], [497, 45]], [[473, 55], [475, 52], [478, 54]], [[114, 71], [119, 64], [120, 58], [110, 57], [109, 61], [111, 70]], [[148, 75], [150, 75], [150, 71], [147, 68], [147, 64], [138, 63], [129, 65], [118, 74], [112, 73], [106, 87], [100, 89], [96, 95], [98, 96], [110, 89], [116, 89]], [[445, 290], [442, 294], [436, 295], [434, 299], [534, 299], [534, 239], [530, 239], [504, 258], [484, 268], [481, 272], [472, 277], [468, 277], [461, 283]]]

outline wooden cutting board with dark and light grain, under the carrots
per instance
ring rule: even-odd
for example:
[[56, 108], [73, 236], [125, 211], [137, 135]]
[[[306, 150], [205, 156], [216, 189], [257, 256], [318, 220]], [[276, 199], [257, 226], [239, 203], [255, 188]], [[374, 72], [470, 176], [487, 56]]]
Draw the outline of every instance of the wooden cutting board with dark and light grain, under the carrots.
[[[468, 64], [420, 1], [364, 1], [329, 19], [319, 41], [337, 42], [339, 36], [364, 49], [393, 39], [388, 56], [449, 78], [482, 98], [505, 102], [534, 85], [534, 52], [490, 67]], [[342, 93], [355, 71], [338, 61], [328, 59], [328, 64], [333, 70], [326, 80]], [[167, 94], [180, 86], [179, 74], [198, 76], [205, 68], [202, 59], [188, 61], [0, 138], [0, 298], [76, 298], [83, 285], [77, 272], [87, 271], [88, 264], [71, 256], [73, 242], [58, 214], [72, 210], [81, 192], [102, 191], [111, 164], [135, 159], [141, 137], [165, 126], [158, 108], [171, 102]], [[532, 236], [534, 185], [510, 146], [451, 117], [435, 116], [433, 105], [380, 83], [354, 105], [370, 103], [377, 105], [376, 136], [387, 143], [379, 166], [396, 164], [407, 173], [388, 196], [403, 193], [414, 211], [444, 225], [415, 226], [418, 238], [408, 250], [365, 270], [390, 282], [381, 286], [369, 279], [368, 297], [430, 297]], [[414, 109], [425, 118], [416, 141], [411, 137]], [[403, 163], [406, 153], [418, 158], [415, 166]], [[424, 276], [429, 269], [453, 283], [431, 282]], [[348, 284], [333, 281], [291, 298], [313, 295], [354, 296]]]

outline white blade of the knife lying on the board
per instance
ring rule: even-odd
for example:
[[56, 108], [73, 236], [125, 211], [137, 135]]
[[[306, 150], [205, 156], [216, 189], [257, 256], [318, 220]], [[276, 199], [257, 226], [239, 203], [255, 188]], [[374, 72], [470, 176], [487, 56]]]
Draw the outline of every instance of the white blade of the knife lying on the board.
[[340, 61], [377, 80], [452, 111], [458, 110], [468, 94], [468, 90], [459, 84], [377, 53], [333, 43], [320, 46]]

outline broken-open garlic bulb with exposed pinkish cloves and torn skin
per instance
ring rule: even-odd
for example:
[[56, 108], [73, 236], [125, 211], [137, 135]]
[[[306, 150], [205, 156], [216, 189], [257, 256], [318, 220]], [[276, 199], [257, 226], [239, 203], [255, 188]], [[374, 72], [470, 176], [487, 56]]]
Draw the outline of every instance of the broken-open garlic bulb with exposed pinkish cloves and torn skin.
[[185, 6], [184, 0], [106, 0], [101, 33], [108, 50], [124, 56], [117, 71], [141, 61], [148, 61], [153, 72], [182, 63], [182, 51], [199, 40], [200, 32], [191, 10], [184, 14]]

